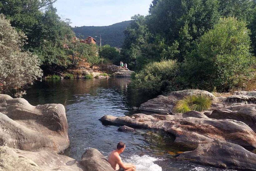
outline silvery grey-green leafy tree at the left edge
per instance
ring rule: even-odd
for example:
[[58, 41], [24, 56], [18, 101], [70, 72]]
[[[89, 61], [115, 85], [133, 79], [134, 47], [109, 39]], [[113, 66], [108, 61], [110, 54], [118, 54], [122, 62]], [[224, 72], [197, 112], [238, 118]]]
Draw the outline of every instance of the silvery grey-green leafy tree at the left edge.
[[[19, 90], [42, 76], [36, 55], [22, 51], [26, 36], [0, 15], [0, 90]], [[22, 94], [21, 94], [22, 95]]]

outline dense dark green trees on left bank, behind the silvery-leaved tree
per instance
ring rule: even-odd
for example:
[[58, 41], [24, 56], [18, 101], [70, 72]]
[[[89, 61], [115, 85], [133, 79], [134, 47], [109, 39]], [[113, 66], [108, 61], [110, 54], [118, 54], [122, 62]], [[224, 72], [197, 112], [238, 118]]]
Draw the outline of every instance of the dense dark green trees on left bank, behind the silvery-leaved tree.
[[52, 6], [55, 1], [0, 1], [0, 13], [18, 32], [25, 33], [27, 43], [23, 48], [39, 57], [45, 74], [73, 67], [87, 58], [95, 63], [95, 59], [99, 59], [97, 48], [73, 39], [75, 33], [70, 21], [57, 15], [56, 8]]

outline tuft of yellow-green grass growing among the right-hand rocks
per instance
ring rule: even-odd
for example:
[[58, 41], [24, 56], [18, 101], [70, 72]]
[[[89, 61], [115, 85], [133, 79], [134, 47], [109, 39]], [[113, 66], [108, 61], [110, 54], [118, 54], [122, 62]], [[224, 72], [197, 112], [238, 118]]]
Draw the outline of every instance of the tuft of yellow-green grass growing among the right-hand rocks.
[[175, 111], [178, 113], [186, 113], [190, 110], [202, 112], [211, 107], [212, 100], [206, 96], [187, 96], [179, 100], [175, 105]]

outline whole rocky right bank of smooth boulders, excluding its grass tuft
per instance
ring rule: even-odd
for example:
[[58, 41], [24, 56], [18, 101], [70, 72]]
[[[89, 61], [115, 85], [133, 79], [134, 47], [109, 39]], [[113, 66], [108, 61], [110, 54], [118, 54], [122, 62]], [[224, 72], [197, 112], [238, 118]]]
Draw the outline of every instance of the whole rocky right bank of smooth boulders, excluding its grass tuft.
[[[211, 107], [203, 112], [175, 113], [177, 101], [190, 95], [209, 97]], [[251, 152], [256, 148], [255, 91], [234, 92], [225, 97], [215, 97], [203, 90], [175, 91], [141, 104], [140, 110], [157, 114], [105, 115], [100, 120], [105, 125], [126, 126], [125, 131], [132, 130], [129, 127], [162, 130], [175, 136], [175, 143], [180, 146], [195, 149], [177, 155], [176, 159], [227, 169], [256, 170], [256, 154]]]

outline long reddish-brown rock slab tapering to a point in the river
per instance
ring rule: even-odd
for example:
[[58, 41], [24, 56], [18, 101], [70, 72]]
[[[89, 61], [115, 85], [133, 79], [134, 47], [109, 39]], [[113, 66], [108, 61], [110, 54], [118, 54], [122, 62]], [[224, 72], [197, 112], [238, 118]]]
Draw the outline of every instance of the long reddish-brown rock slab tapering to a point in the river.
[[140, 113], [132, 115], [131, 118], [105, 115], [100, 120], [106, 125], [126, 125], [169, 132], [176, 137], [176, 143], [193, 148], [198, 144], [214, 140], [232, 142], [251, 149], [256, 148], [256, 134], [245, 123], [230, 119], [211, 119], [195, 111], [174, 115]]

